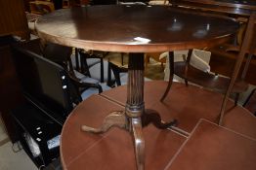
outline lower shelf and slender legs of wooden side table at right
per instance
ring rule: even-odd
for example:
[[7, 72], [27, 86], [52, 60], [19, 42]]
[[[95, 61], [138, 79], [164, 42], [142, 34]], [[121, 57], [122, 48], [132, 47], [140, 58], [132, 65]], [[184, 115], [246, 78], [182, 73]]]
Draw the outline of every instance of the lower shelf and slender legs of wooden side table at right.
[[[236, 94], [235, 105], [237, 104], [239, 93], [244, 92], [248, 88], [248, 84], [245, 83], [244, 78], [248, 70], [248, 65], [252, 57], [252, 52], [254, 51], [254, 48], [255, 48], [255, 43], [253, 44], [253, 41], [251, 40], [251, 37], [253, 37], [253, 29], [254, 29], [253, 22], [255, 20], [255, 14], [253, 14], [249, 20], [250, 20], [249, 21], [250, 24], [248, 24], [247, 26], [246, 34], [242, 43], [242, 46], [244, 47], [243, 49], [241, 48], [239, 53], [235, 55], [236, 63], [233, 69], [234, 73], [231, 76], [233, 78], [237, 77], [236, 75], [238, 75], [239, 68], [243, 61], [243, 58], [246, 53], [249, 53], [245, 63], [245, 67], [242, 71], [242, 74], [240, 77], [238, 77], [235, 80], [235, 85], [232, 88], [232, 92]], [[171, 53], [171, 56], [173, 57], [172, 52], [170, 53]], [[205, 73], [200, 71], [199, 69], [194, 68], [191, 64], [189, 64], [191, 60], [191, 56], [192, 56], [192, 50], [189, 51], [187, 61], [173, 64], [174, 69], [171, 70], [171, 73], [174, 73], [179, 77], [184, 78], [187, 81], [186, 83], [187, 85], [188, 85], [188, 81], [190, 81], [196, 85], [201, 85], [203, 87], [227, 94], [229, 85], [232, 85], [230, 84], [232, 81], [232, 78], [226, 78], [226, 77], [222, 77], [214, 74]], [[167, 86], [166, 91], [161, 98], [161, 101], [164, 100], [165, 96], [167, 95], [170, 89], [170, 85], [171, 85], [170, 82], [171, 80], [169, 81], [169, 85]]]

